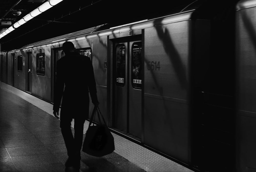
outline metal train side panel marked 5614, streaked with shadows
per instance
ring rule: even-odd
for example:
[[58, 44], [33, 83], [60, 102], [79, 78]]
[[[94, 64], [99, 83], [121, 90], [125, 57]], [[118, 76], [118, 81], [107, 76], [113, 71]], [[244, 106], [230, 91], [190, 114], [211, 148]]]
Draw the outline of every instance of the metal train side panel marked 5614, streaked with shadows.
[[189, 163], [189, 20], [146, 28], [145, 35], [145, 144]]

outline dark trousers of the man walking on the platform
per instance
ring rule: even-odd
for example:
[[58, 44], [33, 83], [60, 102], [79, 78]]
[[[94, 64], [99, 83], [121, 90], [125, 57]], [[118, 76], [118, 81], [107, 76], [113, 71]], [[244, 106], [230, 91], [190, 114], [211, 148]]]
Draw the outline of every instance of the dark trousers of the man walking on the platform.
[[[89, 102], [88, 106], [83, 106], [82, 111], [76, 111], [75, 109], [67, 110], [66, 108], [61, 109], [60, 128], [69, 156], [69, 164], [66, 164], [66, 166], [76, 166], [80, 168], [80, 152], [83, 143], [83, 126], [85, 120], [88, 118], [88, 113]], [[74, 136], [71, 131], [71, 121], [73, 119]]]

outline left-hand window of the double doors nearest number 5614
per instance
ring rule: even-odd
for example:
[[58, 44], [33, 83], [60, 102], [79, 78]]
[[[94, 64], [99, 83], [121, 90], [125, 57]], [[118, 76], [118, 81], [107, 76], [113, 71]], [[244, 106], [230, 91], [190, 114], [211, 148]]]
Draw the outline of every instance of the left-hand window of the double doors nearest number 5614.
[[123, 87], [125, 84], [125, 46], [118, 44], [116, 46], [116, 85]]

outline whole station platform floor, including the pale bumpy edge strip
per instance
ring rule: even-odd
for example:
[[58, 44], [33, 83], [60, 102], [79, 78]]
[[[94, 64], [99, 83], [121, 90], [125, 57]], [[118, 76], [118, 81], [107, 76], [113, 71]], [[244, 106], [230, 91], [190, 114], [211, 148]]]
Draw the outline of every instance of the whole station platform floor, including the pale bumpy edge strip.
[[[66, 147], [52, 106], [0, 82], [0, 172], [65, 171]], [[84, 133], [88, 125], [86, 121]], [[115, 151], [104, 157], [82, 152], [81, 172], [193, 172], [112, 134]]]

